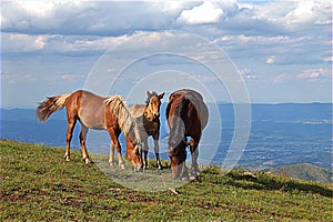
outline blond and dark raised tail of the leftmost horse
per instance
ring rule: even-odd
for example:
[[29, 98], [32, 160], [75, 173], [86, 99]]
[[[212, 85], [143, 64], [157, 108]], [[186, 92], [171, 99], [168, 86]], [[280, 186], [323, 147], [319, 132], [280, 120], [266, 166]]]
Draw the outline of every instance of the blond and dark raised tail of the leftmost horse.
[[72, 93], [64, 93], [56, 97], [48, 98], [43, 102], [39, 103], [39, 105], [36, 109], [37, 119], [39, 122], [47, 122], [49, 117], [58, 111], [64, 108], [65, 100], [71, 95]]

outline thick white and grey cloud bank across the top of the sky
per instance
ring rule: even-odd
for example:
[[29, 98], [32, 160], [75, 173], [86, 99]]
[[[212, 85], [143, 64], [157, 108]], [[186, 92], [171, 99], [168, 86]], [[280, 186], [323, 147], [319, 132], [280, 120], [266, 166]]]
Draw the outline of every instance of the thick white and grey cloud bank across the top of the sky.
[[[215, 37], [225, 33], [286, 36], [291, 31], [302, 32], [303, 27], [309, 31], [332, 23], [331, 8], [321, 0], [261, 4], [235, 0], [19, 1], [2, 3], [1, 30], [30, 34], [123, 36], [134, 31], [178, 29]], [[198, 24], [210, 26], [199, 29]]]

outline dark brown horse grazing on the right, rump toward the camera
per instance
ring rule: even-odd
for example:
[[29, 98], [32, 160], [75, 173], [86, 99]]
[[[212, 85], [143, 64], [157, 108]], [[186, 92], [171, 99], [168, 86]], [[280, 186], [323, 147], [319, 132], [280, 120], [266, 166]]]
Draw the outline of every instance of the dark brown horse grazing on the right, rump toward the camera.
[[[189, 179], [185, 165], [186, 147], [190, 145], [191, 179], [198, 175], [198, 145], [202, 130], [208, 123], [209, 112], [202, 95], [193, 90], [178, 90], [169, 97], [167, 119], [170, 128], [169, 158], [172, 178]], [[190, 137], [188, 141], [186, 137]]]

